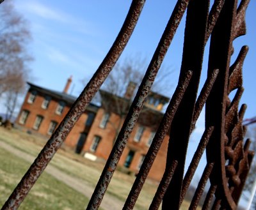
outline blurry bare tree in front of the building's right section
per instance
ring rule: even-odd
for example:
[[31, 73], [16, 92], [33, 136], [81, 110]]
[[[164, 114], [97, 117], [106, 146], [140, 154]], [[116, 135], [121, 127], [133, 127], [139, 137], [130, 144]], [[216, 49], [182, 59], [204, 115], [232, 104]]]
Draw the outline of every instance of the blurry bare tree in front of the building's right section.
[[[97, 100], [100, 100], [107, 114], [115, 113], [119, 116], [115, 117], [115, 121], [111, 121], [110, 119], [108, 121], [115, 130], [113, 142], [115, 142], [120, 128], [124, 123], [124, 119], [131, 105], [131, 100], [134, 98], [138, 90], [138, 85], [141, 83], [146, 70], [146, 59], [141, 59], [140, 56], [136, 56], [135, 58], [130, 57], [122, 63], [116, 63], [100, 90], [100, 96], [97, 96]], [[170, 74], [172, 74], [171, 68], [161, 68], [152, 87], [152, 91], [159, 94], [166, 93], [166, 90], [170, 91], [172, 89]], [[154, 120], [149, 119], [153, 113], [148, 112], [149, 110], [144, 107], [140, 119], [143, 118], [145, 121], [152, 123], [156, 121], [155, 124], [159, 123], [160, 119], [156, 115], [154, 115]]]

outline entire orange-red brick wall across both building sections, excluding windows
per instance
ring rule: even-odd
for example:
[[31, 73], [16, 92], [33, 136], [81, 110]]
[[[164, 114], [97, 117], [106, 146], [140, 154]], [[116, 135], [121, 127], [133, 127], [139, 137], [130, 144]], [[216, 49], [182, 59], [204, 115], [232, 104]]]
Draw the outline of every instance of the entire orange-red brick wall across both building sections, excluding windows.
[[[26, 98], [24, 100], [24, 103], [20, 109], [20, 114], [22, 110], [29, 110], [29, 116], [25, 124], [22, 124], [25, 128], [28, 128], [29, 130], [36, 131], [38, 133], [41, 133], [42, 135], [46, 135], [47, 131], [49, 129], [49, 124], [51, 121], [56, 121], [58, 124], [61, 122], [65, 114], [67, 114], [70, 107], [66, 106], [63, 110], [63, 113], [61, 115], [56, 114], [56, 107], [58, 106], [59, 100], [55, 100], [54, 98], [51, 99], [51, 102], [49, 103], [49, 107], [47, 109], [42, 109], [41, 105], [44, 101], [44, 95], [37, 93], [34, 103], [28, 103], [28, 97], [29, 92], [26, 95]], [[88, 132], [87, 139], [84, 143], [83, 147], [83, 153], [88, 152], [95, 154], [95, 156], [98, 156], [100, 158], [104, 158], [104, 160], [108, 159], [108, 156], [111, 152], [111, 149], [113, 147], [113, 140], [115, 139], [115, 127], [118, 127], [118, 123], [120, 122], [120, 117], [116, 114], [111, 114], [109, 116], [109, 122], [106, 124], [106, 128], [100, 128], [100, 122], [102, 121], [102, 117], [104, 116], [104, 109], [100, 108], [95, 116], [95, 119], [92, 123], [92, 126], [90, 127], [90, 131]], [[17, 117], [17, 124], [19, 123], [20, 114]], [[42, 124], [40, 125], [40, 128], [38, 130], [33, 130], [33, 125], [35, 123], [36, 115], [44, 116], [44, 120], [42, 121]], [[82, 132], [85, 130], [85, 123], [86, 119], [88, 117], [88, 114], [84, 113], [80, 119], [77, 121], [76, 125], [70, 131], [68, 134], [67, 140], [65, 140], [65, 145], [72, 147], [73, 149], [76, 149], [77, 140], [79, 139]], [[148, 139], [150, 137], [150, 132], [153, 131], [149, 127], [145, 127], [145, 130], [143, 131], [143, 135], [141, 136], [140, 142], [134, 141], [134, 136], [136, 134], [136, 131], [139, 128], [139, 124], [136, 124], [134, 130], [131, 133], [131, 137], [129, 138], [127, 142], [127, 146], [124, 149], [124, 153], [122, 154], [120, 161], [118, 165], [124, 165], [125, 159], [127, 158], [127, 154], [130, 150], [134, 151], [134, 158], [132, 159], [131, 165], [129, 167], [129, 170], [132, 170], [133, 172], [138, 172], [138, 165], [140, 164], [141, 156], [147, 154], [148, 151]], [[96, 151], [93, 152], [90, 150], [90, 147], [92, 146], [93, 138], [95, 136], [101, 137], [99, 146], [97, 147]], [[148, 177], [151, 179], [161, 180], [161, 177], [163, 176], [163, 172], [165, 169], [166, 164], [166, 151], [168, 147], [168, 135], [165, 137], [164, 142], [161, 146], [161, 149], [159, 150], [159, 153], [157, 154], [156, 160], [154, 161], [154, 164], [152, 166], [152, 169], [150, 170], [150, 173], [148, 174]]]

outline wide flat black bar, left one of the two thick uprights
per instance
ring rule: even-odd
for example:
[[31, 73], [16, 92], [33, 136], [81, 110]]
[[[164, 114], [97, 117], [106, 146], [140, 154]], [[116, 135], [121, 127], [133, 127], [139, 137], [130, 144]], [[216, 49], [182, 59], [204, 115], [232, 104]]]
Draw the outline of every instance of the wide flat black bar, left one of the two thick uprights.
[[[202, 70], [208, 10], [209, 1], [189, 2], [179, 82], [187, 70], [193, 71], [193, 76], [175, 114], [170, 130], [166, 168], [168, 169], [170, 163], [174, 160], [178, 161], [178, 165], [168, 190], [164, 195], [163, 210], [179, 209], [184, 163]], [[180, 131], [180, 128], [182, 128], [182, 131]]]

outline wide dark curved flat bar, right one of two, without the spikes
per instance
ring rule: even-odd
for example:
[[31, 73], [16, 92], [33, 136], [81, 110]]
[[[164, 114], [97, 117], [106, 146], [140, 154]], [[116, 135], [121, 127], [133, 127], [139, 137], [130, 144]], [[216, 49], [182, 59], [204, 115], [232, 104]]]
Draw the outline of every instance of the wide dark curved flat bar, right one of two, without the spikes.
[[[230, 105], [227, 95], [228, 75], [230, 56], [233, 51], [232, 41], [237, 14], [236, 8], [237, 1], [225, 1], [218, 22], [216, 22], [211, 34], [208, 74], [214, 69], [220, 70], [205, 106], [205, 126], [214, 126], [214, 132], [207, 146], [207, 161], [214, 162], [214, 172], [210, 177], [211, 183], [218, 185], [219, 193], [216, 195], [218, 199], [214, 202], [214, 208], [219, 207], [220, 204], [225, 204], [228, 209], [236, 209], [236, 203], [228, 188], [225, 172], [225, 142], [228, 141], [225, 133], [225, 114], [226, 108]], [[223, 201], [220, 202], [219, 199]]]

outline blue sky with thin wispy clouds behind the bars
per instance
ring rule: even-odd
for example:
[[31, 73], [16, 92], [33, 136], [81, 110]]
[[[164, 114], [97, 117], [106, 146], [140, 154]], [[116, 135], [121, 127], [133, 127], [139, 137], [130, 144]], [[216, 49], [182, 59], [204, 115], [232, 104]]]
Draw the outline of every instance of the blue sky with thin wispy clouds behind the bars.
[[[73, 82], [70, 91], [74, 95], [78, 95], [83, 89], [81, 80], [88, 81], [106, 56], [131, 4], [131, 1], [120, 0], [13, 0], [13, 2], [16, 10], [29, 20], [33, 36], [29, 52], [35, 60], [30, 65], [33, 77], [29, 82], [62, 91], [68, 77], [72, 75]], [[175, 1], [170, 0], [145, 3], [132, 38], [120, 57], [121, 61], [126, 57], [141, 55], [141, 57], [146, 57], [149, 63], [174, 4]], [[256, 1], [252, 0], [246, 12], [247, 34], [234, 41], [235, 53], [232, 56], [232, 61], [234, 61], [240, 48], [243, 45], [249, 45], [250, 50], [243, 68], [245, 91], [241, 100], [241, 103], [248, 105], [245, 118], [256, 116], [255, 8]], [[179, 77], [185, 18], [184, 15], [164, 59], [164, 66], [173, 69], [170, 75], [173, 89]], [[207, 50], [205, 53], [207, 59]], [[207, 61], [204, 62], [202, 71], [204, 80]], [[172, 96], [172, 91], [170, 96]], [[196, 134], [202, 133], [202, 130], [204, 130], [204, 117], [200, 118], [193, 135], [196, 137]]]

